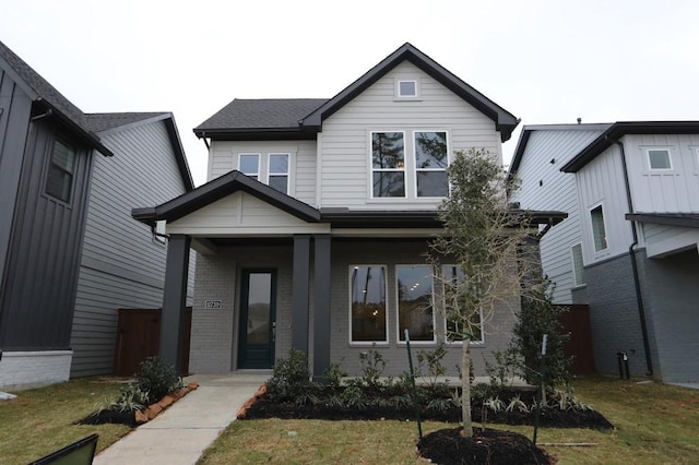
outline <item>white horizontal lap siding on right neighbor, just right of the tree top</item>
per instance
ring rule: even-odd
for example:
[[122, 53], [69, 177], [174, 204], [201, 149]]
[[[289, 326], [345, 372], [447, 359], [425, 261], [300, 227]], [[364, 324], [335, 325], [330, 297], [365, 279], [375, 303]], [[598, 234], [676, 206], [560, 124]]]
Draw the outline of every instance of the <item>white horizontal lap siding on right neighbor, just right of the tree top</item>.
[[513, 201], [528, 210], [568, 214], [540, 245], [544, 273], [555, 283], [556, 303], [572, 303], [570, 289], [576, 285], [570, 248], [582, 240], [576, 175], [561, 172], [560, 167], [602, 132], [583, 128], [533, 130], [517, 172], [522, 184]]

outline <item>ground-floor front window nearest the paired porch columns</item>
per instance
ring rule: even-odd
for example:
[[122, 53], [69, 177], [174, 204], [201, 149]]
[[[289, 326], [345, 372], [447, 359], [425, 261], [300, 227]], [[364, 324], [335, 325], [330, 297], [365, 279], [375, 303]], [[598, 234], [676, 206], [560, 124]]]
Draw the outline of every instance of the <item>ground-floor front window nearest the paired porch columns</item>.
[[350, 342], [388, 343], [386, 265], [350, 266]]

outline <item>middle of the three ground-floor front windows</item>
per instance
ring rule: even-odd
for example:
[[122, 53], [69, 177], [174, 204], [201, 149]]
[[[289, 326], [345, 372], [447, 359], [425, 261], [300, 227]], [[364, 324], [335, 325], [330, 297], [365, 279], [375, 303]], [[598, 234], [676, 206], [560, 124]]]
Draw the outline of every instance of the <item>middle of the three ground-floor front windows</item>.
[[398, 341], [436, 342], [433, 312], [433, 269], [429, 265], [395, 266], [398, 291]]

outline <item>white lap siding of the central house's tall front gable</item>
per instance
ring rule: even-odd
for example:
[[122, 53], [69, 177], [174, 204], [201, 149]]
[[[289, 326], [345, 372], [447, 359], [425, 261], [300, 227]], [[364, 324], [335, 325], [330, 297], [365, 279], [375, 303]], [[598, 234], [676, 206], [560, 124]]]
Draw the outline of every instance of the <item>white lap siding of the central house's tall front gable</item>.
[[[395, 98], [396, 80], [417, 80], [419, 98]], [[319, 139], [319, 203], [353, 210], [425, 210], [441, 199], [371, 199], [371, 131], [405, 133], [405, 157], [413, 131], [447, 131], [454, 151], [485, 148], [502, 159], [495, 122], [414, 64], [404, 61], [323, 122]], [[406, 172], [406, 191], [414, 182]]]

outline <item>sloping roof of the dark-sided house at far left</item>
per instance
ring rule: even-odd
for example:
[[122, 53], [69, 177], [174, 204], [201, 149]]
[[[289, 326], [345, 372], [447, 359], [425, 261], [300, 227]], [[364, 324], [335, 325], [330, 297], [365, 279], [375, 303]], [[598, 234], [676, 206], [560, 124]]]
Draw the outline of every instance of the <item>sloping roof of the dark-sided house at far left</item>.
[[0, 68], [11, 73], [12, 79], [22, 87], [29, 98], [60, 122], [75, 131], [76, 135], [105, 156], [114, 155], [105, 147], [99, 138], [90, 129], [85, 115], [66, 98], [51, 84], [42, 78], [32, 67], [16, 56], [8, 46], [0, 41]]

